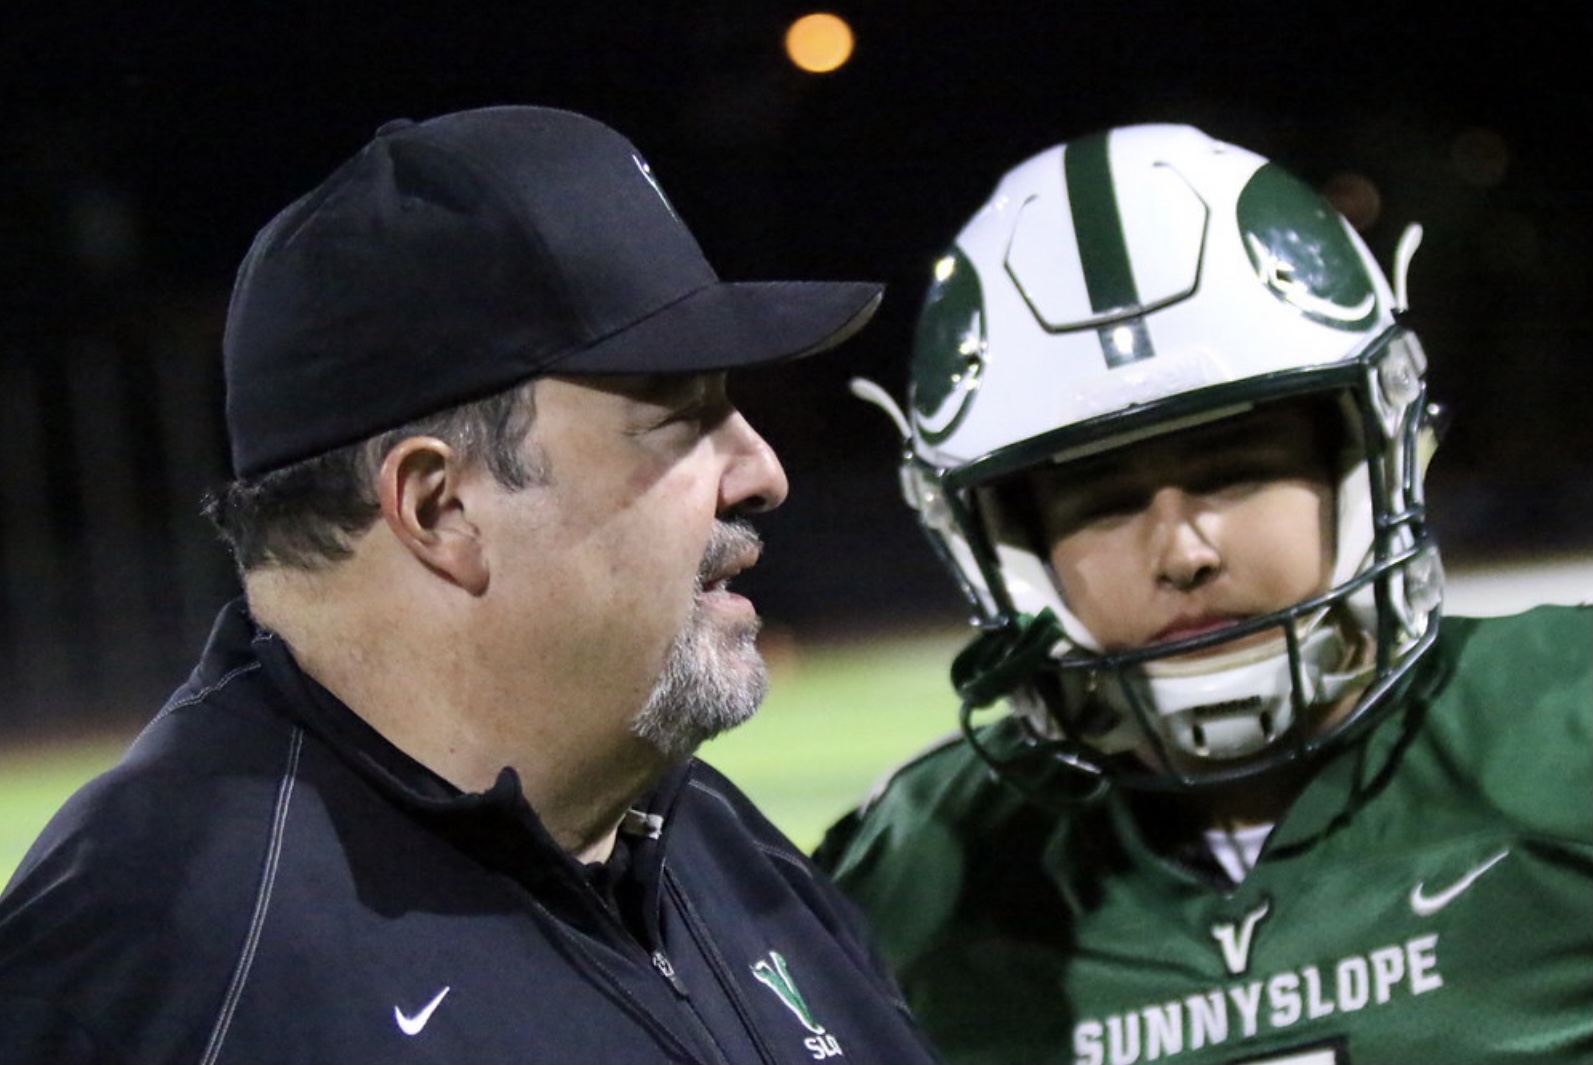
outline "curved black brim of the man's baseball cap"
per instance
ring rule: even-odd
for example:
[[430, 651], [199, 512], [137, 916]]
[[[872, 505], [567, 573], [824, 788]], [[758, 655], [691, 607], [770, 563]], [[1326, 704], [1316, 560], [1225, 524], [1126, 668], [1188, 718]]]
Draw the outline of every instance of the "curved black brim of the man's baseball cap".
[[718, 282], [540, 373], [683, 374], [801, 358], [862, 330], [883, 295], [871, 282]]

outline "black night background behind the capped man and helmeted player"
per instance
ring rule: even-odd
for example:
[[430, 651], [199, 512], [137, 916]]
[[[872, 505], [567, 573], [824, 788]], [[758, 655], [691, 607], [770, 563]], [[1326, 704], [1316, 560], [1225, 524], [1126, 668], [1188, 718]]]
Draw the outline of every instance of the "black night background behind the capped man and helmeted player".
[[1451, 565], [1590, 546], [1587, 8], [828, 5], [841, 70], [782, 54], [822, 5], [53, 3], [0, 25], [0, 731], [139, 720], [234, 587], [218, 337], [255, 229], [386, 119], [546, 103], [628, 134], [725, 277], [887, 282], [843, 353], [738, 382], [792, 501], [742, 581], [796, 634], [961, 621], [852, 400], [900, 395], [927, 267], [997, 175], [1082, 132], [1190, 121], [1333, 188], [1411, 272], [1454, 414], [1429, 486]]

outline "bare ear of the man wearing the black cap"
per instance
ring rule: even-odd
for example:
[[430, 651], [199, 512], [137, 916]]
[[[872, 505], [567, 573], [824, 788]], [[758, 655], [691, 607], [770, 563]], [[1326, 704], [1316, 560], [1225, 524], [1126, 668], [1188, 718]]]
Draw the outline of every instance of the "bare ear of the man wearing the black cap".
[[479, 530], [465, 513], [467, 471], [435, 436], [409, 436], [382, 458], [378, 492], [387, 529], [422, 565], [472, 595], [487, 587]]

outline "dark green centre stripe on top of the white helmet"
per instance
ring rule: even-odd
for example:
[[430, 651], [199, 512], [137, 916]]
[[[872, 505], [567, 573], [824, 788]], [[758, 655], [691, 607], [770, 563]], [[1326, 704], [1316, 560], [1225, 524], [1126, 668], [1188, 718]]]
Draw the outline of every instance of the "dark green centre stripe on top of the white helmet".
[[[1067, 202], [1074, 217], [1074, 237], [1078, 240], [1078, 261], [1085, 271], [1090, 309], [1096, 315], [1136, 310], [1139, 288], [1134, 285], [1134, 266], [1128, 258], [1123, 217], [1112, 181], [1110, 137], [1106, 134], [1083, 137], [1067, 145], [1063, 153], [1063, 174], [1067, 178]], [[1121, 366], [1155, 355], [1141, 322], [1107, 325], [1098, 333], [1107, 366]]]

